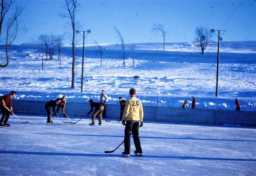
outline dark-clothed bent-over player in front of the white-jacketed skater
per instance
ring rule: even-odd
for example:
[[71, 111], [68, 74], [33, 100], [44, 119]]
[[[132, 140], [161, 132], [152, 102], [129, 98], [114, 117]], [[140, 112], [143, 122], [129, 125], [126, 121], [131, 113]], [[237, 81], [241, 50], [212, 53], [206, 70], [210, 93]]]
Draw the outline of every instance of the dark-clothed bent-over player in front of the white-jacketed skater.
[[89, 100], [89, 103], [91, 104], [91, 110], [86, 114], [86, 116], [89, 116], [90, 113], [93, 111], [93, 107], [95, 107], [94, 112], [92, 113], [92, 123], [89, 125], [95, 125], [95, 118], [99, 118], [98, 125], [102, 125], [102, 113], [104, 110], [104, 105], [98, 102], [94, 102], [92, 99]]

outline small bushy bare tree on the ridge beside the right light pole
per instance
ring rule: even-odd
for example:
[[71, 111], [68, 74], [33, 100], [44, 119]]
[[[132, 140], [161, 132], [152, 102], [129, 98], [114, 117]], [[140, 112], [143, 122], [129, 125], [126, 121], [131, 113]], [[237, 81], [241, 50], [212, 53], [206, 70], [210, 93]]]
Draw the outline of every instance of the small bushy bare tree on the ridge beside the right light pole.
[[196, 41], [199, 44], [201, 48], [201, 53], [204, 55], [204, 50], [206, 49], [206, 46], [210, 42], [210, 38], [212, 37], [212, 34], [209, 29], [205, 27], [200, 27], [196, 29]]

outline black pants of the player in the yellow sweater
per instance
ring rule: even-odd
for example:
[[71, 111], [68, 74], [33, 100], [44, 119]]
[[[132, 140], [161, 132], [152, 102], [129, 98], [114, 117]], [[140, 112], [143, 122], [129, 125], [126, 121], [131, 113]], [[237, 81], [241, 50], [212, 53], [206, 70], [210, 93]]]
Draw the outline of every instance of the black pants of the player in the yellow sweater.
[[139, 140], [139, 121], [126, 121], [124, 130], [124, 151], [129, 152], [131, 150], [131, 132], [134, 141], [134, 145], [137, 153], [142, 153], [142, 147]]

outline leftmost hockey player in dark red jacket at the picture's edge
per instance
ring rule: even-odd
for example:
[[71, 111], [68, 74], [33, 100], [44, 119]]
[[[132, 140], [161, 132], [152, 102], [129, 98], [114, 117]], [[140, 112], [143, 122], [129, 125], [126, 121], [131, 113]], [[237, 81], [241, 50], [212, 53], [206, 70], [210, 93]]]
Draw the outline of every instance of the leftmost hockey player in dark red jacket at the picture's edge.
[[[8, 119], [10, 117], [10, 111], [12, 112], [12, 99], [14, 99], [16, 95], [15, 91], [11, 91], [10, 94], [6, 94], [5, 96], [0, 97], [1, 100], [1, 111], [2, 111], [2, 118], [0, 121], [0, 126], [10, 126], [10, 124], [8, 124]], [[9, 108], [9, 110], [6, 109], [6, 107]]]

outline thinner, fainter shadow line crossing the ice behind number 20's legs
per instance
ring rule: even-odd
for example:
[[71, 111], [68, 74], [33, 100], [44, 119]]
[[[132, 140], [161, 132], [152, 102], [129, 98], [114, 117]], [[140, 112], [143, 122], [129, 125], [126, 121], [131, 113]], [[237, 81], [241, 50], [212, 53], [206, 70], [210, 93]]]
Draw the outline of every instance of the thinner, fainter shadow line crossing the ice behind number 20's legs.
[[[84, 137], [111, 137], [111, 138], [124, 138], [124, 136], [113, 136], [113, 135], [97, 135], [97, 134], [62, 134], [62, 133], [32, 133], [32, 134], [45, 134], [45, 135], [60, 135], [60, 136], [84, 136]], [[252, 142], [256, 140], [243, 140], [243, 139], [206, 139], [206, 138], [193, 138], [193, 137], [151, 137], [151, 136], [140, 136], [142, 139], [174, 139], [174, 140], [210, 140], [210, 141], [235, 141], [235, 142]]]

